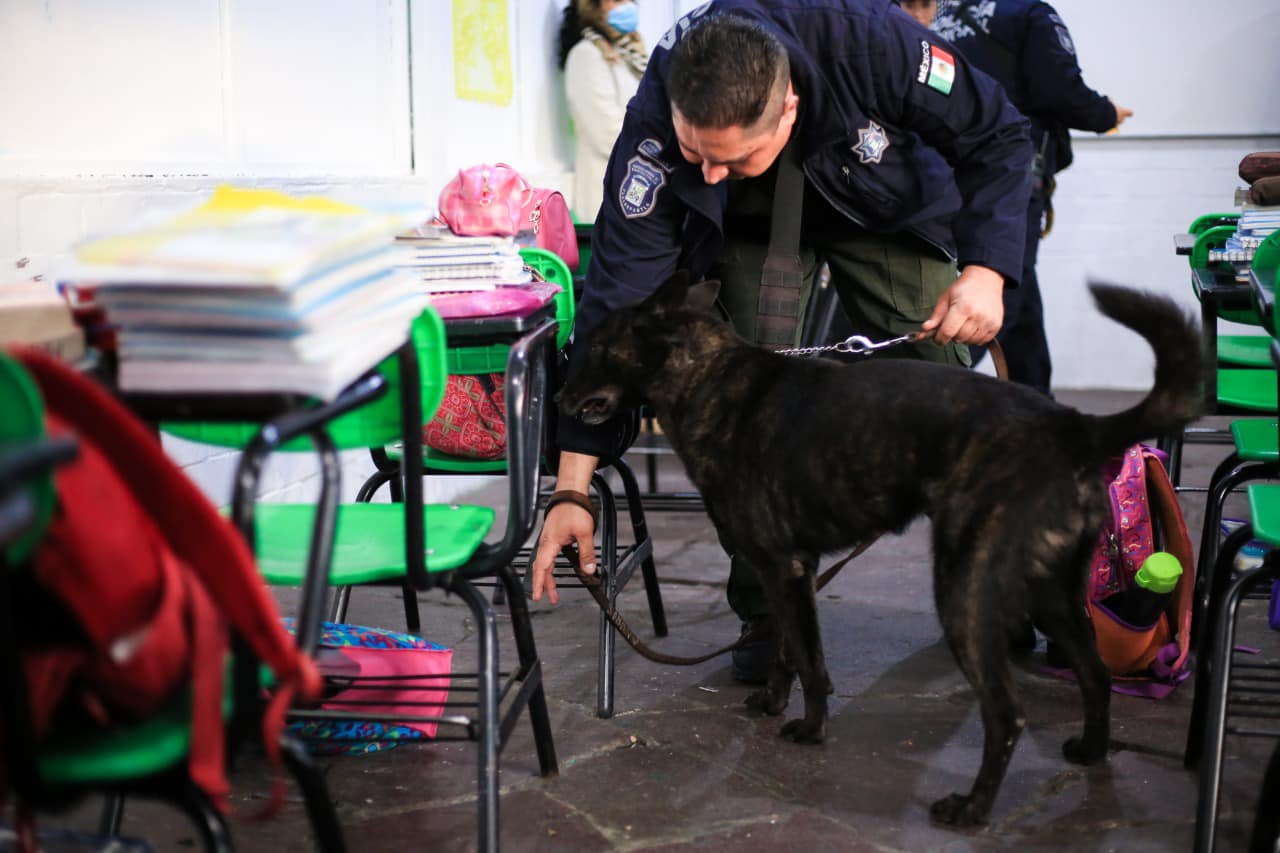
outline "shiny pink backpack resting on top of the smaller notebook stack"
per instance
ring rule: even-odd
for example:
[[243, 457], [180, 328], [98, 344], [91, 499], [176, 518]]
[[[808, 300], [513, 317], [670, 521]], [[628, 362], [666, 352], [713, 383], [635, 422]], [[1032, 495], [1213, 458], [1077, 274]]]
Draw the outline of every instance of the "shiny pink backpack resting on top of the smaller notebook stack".
[[577, 234], [568, 204], [558, 190], [531, 187], [506, 163], [480, 163], [444, 184], [440, 216], [456, 234], [515, 237], [531, 232], [539, 248], [556, 252], [577, 269]]

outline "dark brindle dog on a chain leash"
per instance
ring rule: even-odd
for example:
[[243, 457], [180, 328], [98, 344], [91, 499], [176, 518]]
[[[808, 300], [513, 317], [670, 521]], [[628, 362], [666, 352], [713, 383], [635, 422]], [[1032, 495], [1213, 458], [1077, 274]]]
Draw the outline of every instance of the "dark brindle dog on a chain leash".
[[782, 736], [819, 743], [831, 680], [814, 603], [819, 556], [913, 519], [933, 523], [933, 597], [978, 694], [982, 767], [934, 820], [984, 822], [1024, 720], [1007, 662], [1030, 613], [1075, 671], [1084, 733], [1068, 760], [1107, 752], [1110, 684], [1085, 615], [1085, 573], [1107, 498], [1106, 459], [1180, 429], [1201, 411], [1202, 345], [1167, 298], [1094, 284], [1094, 301], [1156, 351], [1156, 382], [1134, 407], [1079, 412], [1030, 388], [913, 360], [844, 365], [769, 352], [710, 311], [718, 284], [680, 273], [611, 314], [580, 346], [563, 411], [602, 423], [646, 402], [707, 502], [721, 542], [764, 581], [778, 663], [750, 708], [781, 713], [795, 675], [804, 717]]

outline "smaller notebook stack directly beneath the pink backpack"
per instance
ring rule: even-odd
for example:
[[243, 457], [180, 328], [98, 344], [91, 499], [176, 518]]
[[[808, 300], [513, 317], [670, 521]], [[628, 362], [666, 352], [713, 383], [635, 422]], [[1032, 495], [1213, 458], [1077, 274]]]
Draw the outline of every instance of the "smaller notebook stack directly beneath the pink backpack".
[[428, 295], [485, 291], [531, 279], [512, 237], [461, 237], [447, 225], [429, 223], [398, 234], [396, 246], [401, 268]]

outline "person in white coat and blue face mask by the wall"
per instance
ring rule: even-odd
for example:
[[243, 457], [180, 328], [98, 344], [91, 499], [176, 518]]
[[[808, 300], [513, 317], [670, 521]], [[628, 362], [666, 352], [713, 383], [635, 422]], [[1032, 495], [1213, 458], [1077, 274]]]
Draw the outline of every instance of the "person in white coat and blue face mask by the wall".
[[570, 0], [559, 31], [559, 67], [573, 120], [573, 214], [594, 222], [604, 169], [622, 128], [627, 101], [648, 64], [636, 27], [640, 10], [628, 0]]

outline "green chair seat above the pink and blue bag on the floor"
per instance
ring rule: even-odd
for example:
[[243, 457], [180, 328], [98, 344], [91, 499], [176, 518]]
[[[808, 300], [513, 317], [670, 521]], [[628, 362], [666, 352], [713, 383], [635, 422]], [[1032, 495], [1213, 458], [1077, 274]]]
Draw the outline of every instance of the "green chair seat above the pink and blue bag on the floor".
[[[448, 571], [471, 558], [493, 528], [492, 507], [425, 507], [426, 570]], [[262, 503], [255, 524], [259, 569], [269, 584], [302, 585], [315, 505]], [[338, 507], [329, 583], [337, 587], [403, 578], [404, 506], [344, 503]]]

